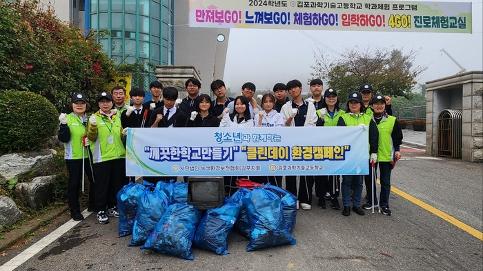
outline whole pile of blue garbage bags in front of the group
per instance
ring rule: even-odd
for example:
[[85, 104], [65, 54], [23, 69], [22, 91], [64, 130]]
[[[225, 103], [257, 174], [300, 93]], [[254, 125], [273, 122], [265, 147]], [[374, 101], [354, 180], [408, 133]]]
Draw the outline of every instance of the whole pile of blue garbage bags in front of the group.
[[236, 228], [247, 251], [294, 245], [297, 199], [269, 184], [239, 188], [223, 205], [206, 211], [188, 203], [188, 184], [129, 183], [117, 195], [119, 236], [132, 234], [130, 246], [193, 260], [192, 245], [228, 254], [228, 236]]

